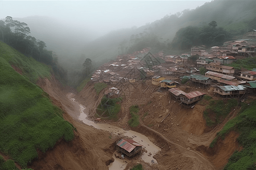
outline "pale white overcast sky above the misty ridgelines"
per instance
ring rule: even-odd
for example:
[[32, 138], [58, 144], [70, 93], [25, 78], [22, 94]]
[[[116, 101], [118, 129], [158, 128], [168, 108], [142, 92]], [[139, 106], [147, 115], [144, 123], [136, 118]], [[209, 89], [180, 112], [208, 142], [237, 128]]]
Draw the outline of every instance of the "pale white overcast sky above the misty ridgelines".
[[[141, 27], [166, 15], [195, 9], [210, 1], [2, 1], [0, 19], [6, 16], [49, 16], [101, 36], [110, 31]], [[20, 20], [22, 22], [22, 20]]]

